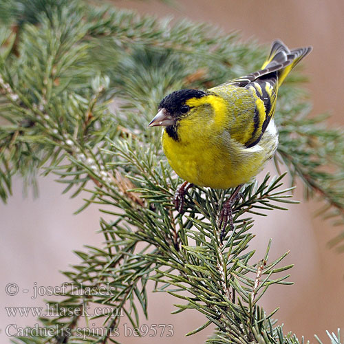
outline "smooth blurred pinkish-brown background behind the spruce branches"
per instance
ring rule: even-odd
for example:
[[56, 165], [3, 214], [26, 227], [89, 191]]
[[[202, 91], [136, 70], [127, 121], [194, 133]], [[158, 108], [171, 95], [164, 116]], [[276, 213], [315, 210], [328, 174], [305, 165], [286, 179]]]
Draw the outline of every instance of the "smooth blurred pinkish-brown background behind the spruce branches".
[[[103, 1], [94, 1], [100, 3]], [[313, 45], [314, 51], [304, 65], [304, 74], [310, 79], [306, 87], [314, 103], [313, 114], [330, 111], [332, 125], [344, 125], [343, 89], [344, 76], [344, 1], [289, 0], [184, 0], [174, 7], [160, 1], [113, 1], [122, 8], [136, 8], [139, 12], [158, 17], [173, 15], [194, 21], [215, 23], [225, 32], [240, 30], [242, 39], [254, 37], [267, 45], [280, 38], [290, 47]], [[272, 165], [268, 166], [275, 173]], [[267, 170], [266, 169], [266, 170]], [[265, 172], [264, 172], [265, 173]], [[1, 205], [1, 286], [0, 286], [0, 338], [6, 325], [19, 327], [34, 325], [32, 316], [8, 317], [3, 306], [43, 305], [43, 297], [33, 300], [31, 294], [19, 292], [9, 297], [4, 292], [7, 283], [15, 282], [22, 289], [37, 286], [58, 286], [64, 281], [58, 269], [67, 270], [78, 258], [72, 250], [83, 244], [100, 244], [96, 235], [99, 213], [87, 208], [81, 215], [72, 213], [78, 208], [81, 197], [69, 200], [61, 196], [63, 187], [54, 178], [39, 180], [40, 197], [23, 199], [21, 181], [17, 180], [14, 195], [6, 206]], [[295, 198], [301, 200], [301, 188]], [[327, 341], [325, 330], [344, 329], [344, 255], [329, 250], [326, 243], [343, 228], [312, 216], [319, 204], [303, 203], [290, 206], [290, 211], [274, 211], [266, 218], [257, 219], [253, 230], [257, 233], [253, 246], [257, 248], [256, 260], [264, 254], [268, 239], [272, 238], [271, 259], [290, 250], [285, 264], [295, 264], [290, 281], [294, 286], [270, 288], [261, 301], [267, 311], [281, 309], [275, 315], [284, 323], [285, 332], [292, 331], [300, 338], [315, 343], [314, 333]], [[142, 323], [173, 324], [171, 338], [125, 338], [122, 343], [203, 343], [212, 329], [184, 337], [186, 332], [204, 323], [196, 312], [171, 315], [173, 303], [180, 303], [167, 294], [149, 295], [149, 320]], [[126, 322], [126, 321], [124, 321]]]

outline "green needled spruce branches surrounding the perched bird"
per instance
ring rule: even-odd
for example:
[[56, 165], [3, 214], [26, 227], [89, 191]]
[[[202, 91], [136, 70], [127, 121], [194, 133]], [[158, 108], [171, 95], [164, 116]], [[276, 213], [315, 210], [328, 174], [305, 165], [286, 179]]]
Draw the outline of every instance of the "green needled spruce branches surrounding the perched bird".
[[[147, 316], [146, 287], [153, 280], [156, 291], [180, 300], [175, 313], [204, 314], [204, 325], [188, 335], [215, 324], [208, 343], [303, 343], [283, 334], [272, 319], [277, 310], [266, 314], [259, 306], [270, 285], [291, 283], [284, 271], [292, 266], [280, 264], [287, 253], [270, 259], [269, 242], [266, 255], [256, 257], [249, 246], [251, 214], [266, 215], [294, 202], [292, 187], [281, 190], [284, 175], [246, 185], [233, 206], [235, 231], [228, 227], [221, 244], [215, 217], [232, 190], [195, 187], [186, 197], [186, 213], [176, 213], [171, 200], [181, 180], [162, 154], [160, 132], [147, 130], [168, 92], [211, 87], [252, 72], [266, 50], [210, 25], [171, 25], [78, 1], [1, 6], [7, 23], [0, 30], [0, 115], [6, 120], [0, 127], [1, 199], [6, 202], [17, 173], [28, 183], [38, 171], [54, 173], [72, 197], [88, 191], [77, 213], [93, 202], [112, 215], [110, 222], [100, 219], [103, 247], [76, 252], [80, 264], [64, 272], [65, 296], [50, 301], [60, 315], [41, 319], [41, 328], [54, 330], [54, 336], [16, 342], [116, 343], [111, 337], [120, 321], [116, 312], [123, 310], [138, 327], [138, 307]], [[10, 23], [20, 24], [17, 37]], [[308, 197], [325, 200], [328, 217], [342, 222], [343, 129], [327, 129], [324, 117], [307, 118], [310, 107], [297, 81], [290, 78], [281, 90], [276, 160], [301, 178]], [[85, 292], [110, 286], [111, 292], [76, 295], [73, 286]], [[89, 305], [114, 312], [95, 317], [102, 318], [102, 336], [79, 338], [81, 316], [63, 309]], [[331, 340], [336, 343], [336, 336]]]

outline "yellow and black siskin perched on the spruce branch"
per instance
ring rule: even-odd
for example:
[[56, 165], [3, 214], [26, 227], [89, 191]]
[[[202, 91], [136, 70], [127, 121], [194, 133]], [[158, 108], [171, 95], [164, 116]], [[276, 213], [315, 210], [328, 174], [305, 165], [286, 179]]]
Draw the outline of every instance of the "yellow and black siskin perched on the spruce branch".
[[180, 89], [163, 98], [149, 127], [164, 127], [162, 148], [171, 168], [185, 180], [173, 203], [182, 213], [193, 186], [235, 188], [217, 218], [224, 239], [232, 206], [244, 184], [255, 178], [277, 150], [274, 121], [279, 87], [312, 47], [290, 50], [272, 42], [261, 69], [210, 89]]

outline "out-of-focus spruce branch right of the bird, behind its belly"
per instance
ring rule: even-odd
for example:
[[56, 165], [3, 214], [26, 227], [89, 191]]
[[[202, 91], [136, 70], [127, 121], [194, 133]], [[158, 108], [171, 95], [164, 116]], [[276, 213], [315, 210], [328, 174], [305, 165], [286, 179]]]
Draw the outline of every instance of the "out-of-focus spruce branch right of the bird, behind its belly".
[[[324, 120], [328, 116], [307, 118], [308, 108], [307, 104], [300, 105], [298, 116], [281, 111], [279, 157], [286, 164], [292, 183], [296, 177], [303, 182], [306, 199], [316, 197], [325, 201], [318, 214], [343, 226], [344, 131], [325, 127]], [[330, 246], [342, 251], [342, 238], [343, 233], [332, 239]]]

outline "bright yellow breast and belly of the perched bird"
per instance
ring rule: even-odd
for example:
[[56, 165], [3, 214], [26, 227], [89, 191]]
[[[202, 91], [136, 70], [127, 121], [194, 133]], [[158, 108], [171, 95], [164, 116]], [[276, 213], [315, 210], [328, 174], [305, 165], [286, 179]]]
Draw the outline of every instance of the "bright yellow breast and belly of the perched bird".
[[[178, 130], [181, 136], [183, 129], [181, 125]], [[180, 178], [198, 186], [227, 189], [249, 182], [268, 160], [264, 149], [244, 150], [241, 144], [210, 136], [210, 132], [203, 128], [196, 140], [182, 141], [162, 133], [164, 153]]]

